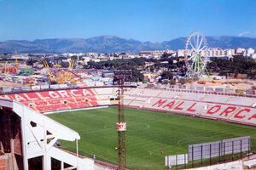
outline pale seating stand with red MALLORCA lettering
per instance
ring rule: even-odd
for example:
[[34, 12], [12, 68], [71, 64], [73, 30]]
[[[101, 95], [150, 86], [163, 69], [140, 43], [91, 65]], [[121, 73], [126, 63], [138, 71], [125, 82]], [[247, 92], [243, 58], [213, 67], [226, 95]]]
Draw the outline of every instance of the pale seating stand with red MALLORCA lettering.
[[256, 98], [137, 88], [125, 94], [125, 106], [200, 116], [256, 126]]

